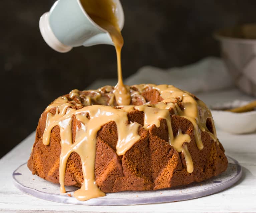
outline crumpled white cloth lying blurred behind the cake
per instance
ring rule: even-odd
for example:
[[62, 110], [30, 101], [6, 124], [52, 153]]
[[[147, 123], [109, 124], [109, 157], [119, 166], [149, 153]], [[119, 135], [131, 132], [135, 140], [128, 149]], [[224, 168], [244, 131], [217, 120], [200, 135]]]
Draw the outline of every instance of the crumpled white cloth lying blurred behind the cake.
[[145, 83], [169, 84], [191, 93], [234, 87], [224, 62], [215, 57], [207, 57], [191, 65], [167, 70], [145, 66], [125, 80], [126, 85]]

